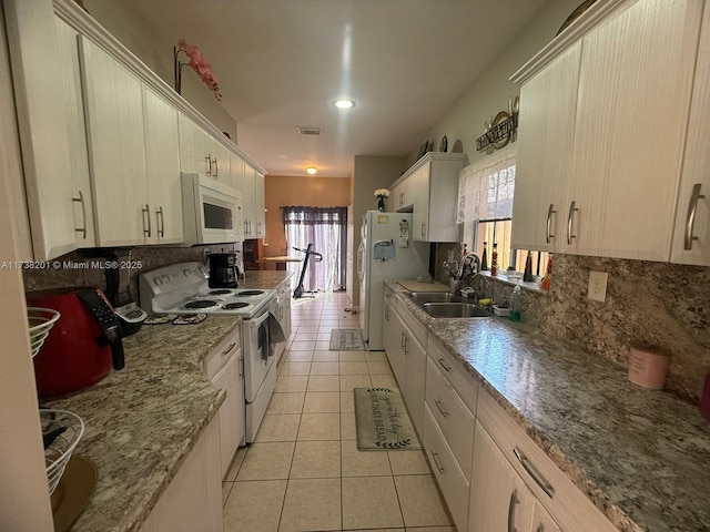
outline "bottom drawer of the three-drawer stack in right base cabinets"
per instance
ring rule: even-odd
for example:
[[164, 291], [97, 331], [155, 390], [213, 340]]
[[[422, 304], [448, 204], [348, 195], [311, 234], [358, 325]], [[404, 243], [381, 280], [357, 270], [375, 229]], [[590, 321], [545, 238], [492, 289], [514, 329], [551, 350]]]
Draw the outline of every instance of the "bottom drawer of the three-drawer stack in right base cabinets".
[[470, 484], [426, 405], [424, 406], [424, 447], [456, 529], [466, 530]]

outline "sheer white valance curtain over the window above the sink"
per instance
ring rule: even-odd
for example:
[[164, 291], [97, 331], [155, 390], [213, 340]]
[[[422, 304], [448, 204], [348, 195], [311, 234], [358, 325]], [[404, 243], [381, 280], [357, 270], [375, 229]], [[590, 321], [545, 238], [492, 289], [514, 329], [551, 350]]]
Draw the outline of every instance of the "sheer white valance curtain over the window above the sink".
[[513, 144], [462, 168], [457, 223], [513, 217], [516, 149]]

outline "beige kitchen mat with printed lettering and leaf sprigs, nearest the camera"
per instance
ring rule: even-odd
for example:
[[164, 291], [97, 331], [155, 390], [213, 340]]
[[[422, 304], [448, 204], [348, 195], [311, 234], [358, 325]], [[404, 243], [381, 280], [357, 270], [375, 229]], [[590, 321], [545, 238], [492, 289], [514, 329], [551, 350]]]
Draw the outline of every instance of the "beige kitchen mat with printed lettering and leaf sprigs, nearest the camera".
[[396, 388], [354, 388], [358, 451], [422, 449]]

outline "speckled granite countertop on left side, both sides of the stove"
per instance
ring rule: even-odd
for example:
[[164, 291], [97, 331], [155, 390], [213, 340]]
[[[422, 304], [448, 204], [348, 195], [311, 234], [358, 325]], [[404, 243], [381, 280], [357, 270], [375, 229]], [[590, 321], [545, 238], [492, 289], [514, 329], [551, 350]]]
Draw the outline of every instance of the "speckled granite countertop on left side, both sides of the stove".
[[[285, 272], [250, 272], [243, 288], [275, 288]], [[202, 359], [241, 324], [144, 325], [124, 338], [125, 368], [70, 397], [47, 401], [85, 423], [75, 454], [99, 479], [72, 532], [138, 531], [224, 400]]]

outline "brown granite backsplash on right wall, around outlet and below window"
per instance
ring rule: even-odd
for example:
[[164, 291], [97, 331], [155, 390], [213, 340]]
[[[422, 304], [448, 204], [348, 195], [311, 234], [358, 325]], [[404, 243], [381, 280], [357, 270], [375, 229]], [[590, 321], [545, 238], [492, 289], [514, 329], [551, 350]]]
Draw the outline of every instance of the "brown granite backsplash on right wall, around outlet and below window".
[[[442, 263], [459, 249], [437, 245], [436, 280], [447, 283]], [[589, 272], [608, 273], [605, 303], [587, 298]], [[490, 285], [494, 300], [507, 301], [511, 285]], [[708, 267], [556, 254], [552, 289], [523, 290], [523, 320], [625, 367], [631, 345], [669, 351], [667, 388], [697, 399], [710, 371], [709, 286]]]

